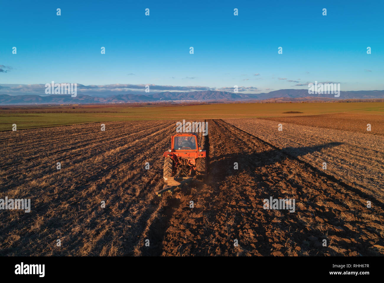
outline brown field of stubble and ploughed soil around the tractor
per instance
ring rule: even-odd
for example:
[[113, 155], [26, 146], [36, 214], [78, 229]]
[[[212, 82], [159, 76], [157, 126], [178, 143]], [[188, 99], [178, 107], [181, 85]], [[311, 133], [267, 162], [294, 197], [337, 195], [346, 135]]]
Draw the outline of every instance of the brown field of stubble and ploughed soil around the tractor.
[[[0, 255], [384, 255], [381, 130], [291, 118], [208, 120], [207, 181], [162, 198], [174, 121], [3, 132], [0, 198], [31, 212], [0, 211]], [[263, 209], [270, 196], [296, 211]]]

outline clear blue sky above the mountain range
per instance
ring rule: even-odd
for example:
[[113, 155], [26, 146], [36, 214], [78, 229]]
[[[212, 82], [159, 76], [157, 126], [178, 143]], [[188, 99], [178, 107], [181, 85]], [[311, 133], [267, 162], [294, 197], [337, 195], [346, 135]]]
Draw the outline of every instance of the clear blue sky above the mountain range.
[[[384, 89], [383, 1], [0, 5], [0, 85], [54, 80], [111, 90], [114, 84], [138, 85], [139, 91], [146, 84], [173, 91], [179, 86], [182, 91], [194, 86], [233, 91], [238, 85], [260, 93], [308, 89], [308, 82], [317, 80], [339, 82], [341, 90]], [[14, 46], [17, 54], [12, 54]], [[189, 54], [191, 46], [194, 54]]]

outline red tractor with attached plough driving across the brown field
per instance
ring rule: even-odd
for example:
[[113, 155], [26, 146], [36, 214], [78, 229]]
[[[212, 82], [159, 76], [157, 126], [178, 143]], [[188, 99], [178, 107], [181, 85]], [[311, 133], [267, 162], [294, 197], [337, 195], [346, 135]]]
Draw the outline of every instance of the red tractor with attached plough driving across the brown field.
[[197, 137], [191, 133], [172, 136], [171, 147], [164, 152], [164, 188], [178, 186], [194, 175], [207, 177], [207, 157], [205, 150], [198, 147]]

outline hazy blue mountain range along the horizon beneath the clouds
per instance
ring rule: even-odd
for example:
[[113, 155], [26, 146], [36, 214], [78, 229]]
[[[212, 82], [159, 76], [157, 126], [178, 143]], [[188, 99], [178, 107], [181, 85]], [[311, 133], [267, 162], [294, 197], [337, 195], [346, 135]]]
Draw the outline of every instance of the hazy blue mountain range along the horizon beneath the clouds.
[[[71, 95], [8, 95], [0, 94], [0, 105], [17, 104], [90, 104], [90, 103], [132, 103], [132, 102], [161, 102], [161, 101], [207, 101], [230, 102], [246, 100], [266, 100], [286, 98], [297, 100], [311, 96], [311, 99], [335, 99], [333, 94], [309, 95], [307, 89], [281, 89], [260, 94], [240, 94], [225, 91], [192, 91], [192, 92], [160, 92], [155, 94], [119, 94], [109, 97], [97, 97], [78, 94]], [[337, 99], [375, 99], [384, 98], [384, 90], [341, 91]]]

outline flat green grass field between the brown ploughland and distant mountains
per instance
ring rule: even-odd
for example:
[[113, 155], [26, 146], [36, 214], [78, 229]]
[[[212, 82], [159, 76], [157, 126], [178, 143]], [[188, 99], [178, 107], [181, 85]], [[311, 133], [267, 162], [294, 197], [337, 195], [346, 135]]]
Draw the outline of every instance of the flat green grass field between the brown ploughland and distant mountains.
[[[84, 105], [83, 105], [84, 106]], [[302, 114], [284, 114], [299, 111]], [[244, 103], [172, 106], [84, 106], [4, 109], [0, 111], [0, 131], [53, 127], [90, 122], [129, 120], [233, 119], [250, 117], [276, 117], [319, 115], [330, 113], [384, 114], [384, 102], [334, 102], [334, 103]]]

